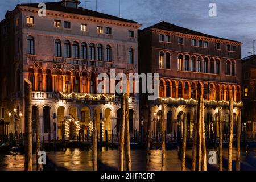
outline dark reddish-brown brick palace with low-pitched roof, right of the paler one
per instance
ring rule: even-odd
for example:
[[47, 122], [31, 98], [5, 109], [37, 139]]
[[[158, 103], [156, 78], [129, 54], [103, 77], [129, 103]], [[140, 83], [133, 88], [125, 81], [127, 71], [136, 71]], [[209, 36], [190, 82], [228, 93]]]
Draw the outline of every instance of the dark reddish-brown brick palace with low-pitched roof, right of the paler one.
[[[185, 113], [192, 137], [195, 106], [201, 94], [207, 134], [212, 131], [218, 137], [217, 107], [222, 110], [224, 134], [228, 133], [229, 100], [234, 100], [235, 123], [242, 107], [241, 42], [160, 22], [140, 30], [138, 44], [139, 73], [159, 73], [159, 99], [149, 102], [152, 135], [160, 131], [160, 104], [164, 100], [167, 135], [182, 129]], [[146, 102], [147, 96], [141, 95], [141, 106]], [[148, 121], [147, 113], [148, 109], [141, 107], [144, 121]]]

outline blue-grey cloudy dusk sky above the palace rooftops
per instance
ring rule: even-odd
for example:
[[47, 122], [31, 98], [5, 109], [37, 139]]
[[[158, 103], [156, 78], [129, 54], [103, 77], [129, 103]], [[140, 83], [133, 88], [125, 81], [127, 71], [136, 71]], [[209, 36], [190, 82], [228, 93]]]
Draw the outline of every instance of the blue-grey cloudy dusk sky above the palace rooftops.
[[[60, 0], [57, 0], [60, 1]], [[81, 7], [85, 1], [80, 0]], [[86, 8], [96, 10], [96, 0], [87, 0]], [[242, 57], [253, 51], [256, 40], [256, 3], [251, 0], [120, 0], [121, 17], [143, 24], [142, 28], [164, 21], [200, 31], [205, 34], [243, 43]], [[55, 0], [9, 0], [1, 1], [0, 19], [17, 3], [55, 2]], [[217, 17], [208, 15], [209, 3], [216, 3]], [[119, 16], [119, 0], [97, 0], [101, 13]]]

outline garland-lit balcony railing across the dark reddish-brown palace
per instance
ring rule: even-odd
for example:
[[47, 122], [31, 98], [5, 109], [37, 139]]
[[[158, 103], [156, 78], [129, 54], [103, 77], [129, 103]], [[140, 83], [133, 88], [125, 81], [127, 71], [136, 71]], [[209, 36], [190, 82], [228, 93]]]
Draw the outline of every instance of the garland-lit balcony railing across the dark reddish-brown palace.
[[[196, 106], [198, 104], [198, 101], [195, 99], [184, 99], [184, 98], [158, 98], [154, 100], [153, 102], [155, 104], [161, 104], [162, 99], [164, 99], [165, 104], [170, 105], [186, 105], [186, 106]], [[229, 101], [204, 101], [204, 105], [207, 107], [229, 107]], [[233, 102], [233, 107], [242, 108], [243, 103], [242, 102]]]

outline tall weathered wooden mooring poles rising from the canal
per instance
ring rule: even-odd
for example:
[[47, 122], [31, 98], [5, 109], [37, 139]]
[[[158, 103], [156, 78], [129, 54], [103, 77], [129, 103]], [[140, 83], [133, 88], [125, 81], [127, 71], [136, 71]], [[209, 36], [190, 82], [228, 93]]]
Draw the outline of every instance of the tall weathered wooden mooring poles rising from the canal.
[[[24, 79], [24, 94], [25, 94], [25, 163], [24, 167], [26, 171], [32, 171], [32, 84], [29, 80]], [[164, 109], [167, 105], [162, 100], [162, 115], [161, 115], [161, 135], [162, 135], [162, 155], [161, 155], [161, 170], [166, 169], [166, 138], [165, 138], [165, 123], [164, 123]], [[151, 130], [151, 109], [147, 104], [148, 109], [148, 125], [146, 134], [146, 170], [150, 170], [150, 130]], [[127, 94], [123, 94], [121, 97], [121, 111], [122, 119], [119, 126], [119, 165], [118, 170], [124, 170], [124, 159], [126, 171], [131, 171], [131, 152], [130, 152], [130, 133], [129, 133], [129, 103]], [[194, 114], [194, 135], [192, 146], [192, 171], [206, 171], [207, 170], [207, 148], [205, 143], [205, 129], [204, 129], [204, 101], [203, 96], [199, 98], [198, 105], [195, 107]], [[39, 115], [36, 113], [36, 115]], [[219, 170], [222, 171], [222, 110], [218, 107], [218, 122], [219, 122]], [[187, 117], [184, 113], [183, 119], [183, 142], [182, 142], [182, 163], [181, 170], [186, 169], [186, 140], [187, 140]], [[240, 135], [241, 135], [241, 111], [238, 114], [237, 119], [237, 159], [236, 170], [240, 170]], [[229, 148], [228, 148], [228, 170], [232, 170], [232, 146], [233, 146], [233, 100], [229, 102]], [[36, 118], [36, 154], [40, 151], [40, 135], [39, 135], [39, 118]], [[125, 157], [124, 157], [125, 155]], [[36, 169], [42, 170], [42, 165], [38, 164], [39, 156], [36, 155]], [[97, 123], [96, 113], [93, 114], [93, 170], [97, 171]]]

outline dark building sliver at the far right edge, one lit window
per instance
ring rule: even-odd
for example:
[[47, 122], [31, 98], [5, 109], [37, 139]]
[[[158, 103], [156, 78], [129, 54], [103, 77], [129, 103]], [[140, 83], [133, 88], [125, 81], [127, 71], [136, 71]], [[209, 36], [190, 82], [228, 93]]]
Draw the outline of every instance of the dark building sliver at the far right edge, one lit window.
[[242, 59], [243, 123], [247, 138], [256, 138], [256, 55]]

